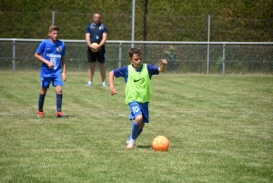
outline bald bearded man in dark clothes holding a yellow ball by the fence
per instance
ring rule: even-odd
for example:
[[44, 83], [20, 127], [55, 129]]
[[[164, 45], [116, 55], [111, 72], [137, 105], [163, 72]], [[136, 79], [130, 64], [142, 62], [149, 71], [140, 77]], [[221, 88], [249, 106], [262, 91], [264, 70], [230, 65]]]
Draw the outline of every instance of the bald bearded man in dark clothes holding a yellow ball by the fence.
[[88, 83], [86, 86], [93, 85], [93, 76], [96, 67], [96, 61], [100, 69], [102, 86], [106, 86], [106, 39], [108, 29], [101, 23], [101, 15], [93, 15], [93, 23], [86, 27], [87, 59], [90, 64], [88, 69]]

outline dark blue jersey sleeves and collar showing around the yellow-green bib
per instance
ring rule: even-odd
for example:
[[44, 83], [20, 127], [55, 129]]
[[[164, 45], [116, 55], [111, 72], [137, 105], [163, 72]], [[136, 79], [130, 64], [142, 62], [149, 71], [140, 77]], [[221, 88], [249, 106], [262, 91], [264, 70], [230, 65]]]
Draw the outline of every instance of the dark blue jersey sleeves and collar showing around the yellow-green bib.
[[[142, 70], [142, 67], [143, 67], [143, 65], [137, 71], [140, 72]], [[158, 75], [159, 74], [158, 67], [159, 66], [153, 66], [153, 65], [147, 64], [147, 70], [148, 70], [148, 74], [149, 74], [150, 79], [152, 78], [153, 75]], [[125, 82], [127, 83], [128, 66], [122, 66], [120, 68], [115, 69], [114, 70], [114, 76], [124, 77]]]

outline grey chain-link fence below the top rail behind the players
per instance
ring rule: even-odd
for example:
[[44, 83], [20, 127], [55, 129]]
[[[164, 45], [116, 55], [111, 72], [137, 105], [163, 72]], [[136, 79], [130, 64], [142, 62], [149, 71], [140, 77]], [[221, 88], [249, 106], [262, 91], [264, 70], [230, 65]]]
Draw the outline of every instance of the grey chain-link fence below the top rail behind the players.
[[[0, 39], [0, 71], [39, 70], [41, 63], [34, 55], [41, 41]], [[66, 42], [67, 71], [86, 71], [86, 41], [63, 41]], [[268, 42], [107, 41], [106, 70], [128, 65], [128, 50], [132, 46], [143, 50], [145, 63], [160, 65], [160, 58], [166, 58], [167, 73], [171, 74], [273, 74], [273, 43]]]

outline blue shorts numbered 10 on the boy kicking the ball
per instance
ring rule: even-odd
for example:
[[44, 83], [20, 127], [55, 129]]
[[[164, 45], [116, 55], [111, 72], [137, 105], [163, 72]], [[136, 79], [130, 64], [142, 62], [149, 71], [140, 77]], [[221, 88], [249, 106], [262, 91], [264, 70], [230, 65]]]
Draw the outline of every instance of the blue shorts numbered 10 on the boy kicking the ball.
[[130, 102], [129, 107], [131, 109], [130, 120], [135, 119], [138, 115], [142, 115], [142, 122], [149, 123], [149, 107], [147, 103]]

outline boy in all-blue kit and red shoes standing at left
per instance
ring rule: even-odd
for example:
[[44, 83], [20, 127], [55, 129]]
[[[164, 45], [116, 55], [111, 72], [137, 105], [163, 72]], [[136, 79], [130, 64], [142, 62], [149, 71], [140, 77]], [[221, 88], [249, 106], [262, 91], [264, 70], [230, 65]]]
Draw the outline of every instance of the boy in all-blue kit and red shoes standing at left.
[[48, 36], [35, 52], [35, 58], [42, 62], [38, 117], [44, 117], [45, 95], [51, 83], [56, 86], [56, 117], [66, 117], [62, 112], [62, 86], [63, 80], [66, 81], [66, 45], [58, 40], [58, 26], [50, 25]]

